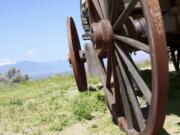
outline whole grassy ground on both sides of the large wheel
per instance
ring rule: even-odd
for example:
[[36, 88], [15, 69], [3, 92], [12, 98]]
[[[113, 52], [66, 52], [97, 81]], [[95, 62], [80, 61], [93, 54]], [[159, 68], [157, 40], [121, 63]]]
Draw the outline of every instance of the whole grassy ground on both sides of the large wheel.
[[[180, 76], [170, 74], [170, 99], [162, 135], [180, 134]], [[2, 135], [124, 135], [112, 123], [97, 78], [79, 93], [73, 76], [0, 86]]]

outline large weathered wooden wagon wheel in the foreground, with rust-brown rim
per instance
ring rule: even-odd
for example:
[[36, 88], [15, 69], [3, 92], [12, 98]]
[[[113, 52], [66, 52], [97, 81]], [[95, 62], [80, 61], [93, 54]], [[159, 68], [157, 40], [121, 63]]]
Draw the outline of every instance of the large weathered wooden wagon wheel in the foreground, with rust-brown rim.
[[[96, 50], [108, 56], [104, 70], [97, 51], [99, 74], [119, 127], [128, 134], [159, 135], [168, 100], [168, 58], [159, 2], [125, 1], [87, 0], [92, 41]], [[150, 57], [150, 87], [130, 55], [137, 50]]]

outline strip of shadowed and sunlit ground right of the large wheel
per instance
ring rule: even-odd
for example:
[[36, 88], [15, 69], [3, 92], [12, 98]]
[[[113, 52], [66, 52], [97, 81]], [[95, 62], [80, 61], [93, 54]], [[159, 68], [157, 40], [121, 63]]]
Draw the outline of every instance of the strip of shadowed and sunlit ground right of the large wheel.
[[180, 134], [180, 74], [170, 73], [170, 91], [166, 123], [164, 125], [166, 134]]

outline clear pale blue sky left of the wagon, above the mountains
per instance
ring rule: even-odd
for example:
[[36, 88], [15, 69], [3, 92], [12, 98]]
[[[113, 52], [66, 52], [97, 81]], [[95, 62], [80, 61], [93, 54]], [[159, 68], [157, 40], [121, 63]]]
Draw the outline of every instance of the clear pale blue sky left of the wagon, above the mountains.
[[68, 16], [82, 33], [79, 0], [0, 0], [0, 62], [66, 59]]

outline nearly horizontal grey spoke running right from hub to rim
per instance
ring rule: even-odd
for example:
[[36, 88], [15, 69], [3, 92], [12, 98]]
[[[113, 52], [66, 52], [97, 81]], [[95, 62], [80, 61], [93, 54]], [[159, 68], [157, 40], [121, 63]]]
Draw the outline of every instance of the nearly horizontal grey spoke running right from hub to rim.
[[114, 39], [116, 39], [122, 43], [125, 43], [126, 45], [129, 45], [131, 47], [134, 47], [138, 50], [150, 53], [150, 47], [147, 44], [144, 44], [138, 40], [135, 40], [135, 39], [132, 39], [129, 37], [125, 37], [125, 36], [116, 35], [116, 34], [114, 34]]

